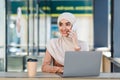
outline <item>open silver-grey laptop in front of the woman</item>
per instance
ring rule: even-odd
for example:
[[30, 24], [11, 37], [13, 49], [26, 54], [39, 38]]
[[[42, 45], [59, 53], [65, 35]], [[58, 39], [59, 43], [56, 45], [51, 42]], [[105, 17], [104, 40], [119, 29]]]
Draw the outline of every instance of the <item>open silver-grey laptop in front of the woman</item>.
[[102, 52], [98, 51], [66, 52], [62, 77], [98, 76], [101, 58]]

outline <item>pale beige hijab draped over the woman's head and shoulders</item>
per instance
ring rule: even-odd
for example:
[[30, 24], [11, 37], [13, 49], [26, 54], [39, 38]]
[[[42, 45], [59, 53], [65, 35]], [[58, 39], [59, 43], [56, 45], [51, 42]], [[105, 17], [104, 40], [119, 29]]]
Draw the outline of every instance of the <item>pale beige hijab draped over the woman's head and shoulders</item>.
[[[73, 14], [67, 12], [62, 13], [58, 17], [58, 23], [62, 19], [70, 21], [71, 24], [74, 24], [76, 20]], [[84, 42], [79, 41], [79, 46], [81, 51], [88, 50], [88, 46]], [[64, 65], [65, 51], [74, 51], [72, 39], [69, 37], [52, 39], [49, 44], [47, 44], [47, 50], [58, 63]]]

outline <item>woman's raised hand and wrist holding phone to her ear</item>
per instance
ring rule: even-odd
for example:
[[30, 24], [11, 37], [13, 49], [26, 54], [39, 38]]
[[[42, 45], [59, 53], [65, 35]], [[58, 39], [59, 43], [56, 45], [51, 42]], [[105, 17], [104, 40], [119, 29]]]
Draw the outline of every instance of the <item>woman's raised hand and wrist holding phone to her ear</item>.
[[77, 38], [76, 32], [70, 30], [68, 33], [69, 33], [68, 37], [72, 38], [72, 41], [73, 41], [73, 44], [74, 44], [74, 49], [76, 51], [79, 51], [80, 47], [78, 46], [78, 38]]

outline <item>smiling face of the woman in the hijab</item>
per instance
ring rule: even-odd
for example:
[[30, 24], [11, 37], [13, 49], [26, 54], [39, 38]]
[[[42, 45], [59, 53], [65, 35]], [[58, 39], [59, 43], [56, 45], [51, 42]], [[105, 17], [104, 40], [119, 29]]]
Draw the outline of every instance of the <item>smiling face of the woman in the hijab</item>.
[[71, 30], [72, 24], [68, 20], [62, 19], [59, 22], [58, 26], [60, 34], [64, 37], [68, 37], [68, 32]]

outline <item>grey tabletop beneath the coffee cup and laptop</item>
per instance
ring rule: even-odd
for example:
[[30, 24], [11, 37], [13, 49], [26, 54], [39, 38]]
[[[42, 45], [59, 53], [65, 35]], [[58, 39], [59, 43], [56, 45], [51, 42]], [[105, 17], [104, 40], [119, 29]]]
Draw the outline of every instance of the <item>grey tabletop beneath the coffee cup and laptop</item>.
[[[27, 77], [28, 75], [26, 72], [0, 72], [0, 78], [27, 78]], [[48, 78], [48, 77], [60, 78], [61, 76], [58, 74], [41, 73], [41, 72], [38, 72], [37, 75], [35, 76], [35, 78]], [[99, 76], [86, 76], [82, 78], [119, 78], [120, 79], [120, 73], [100, 73]]]

